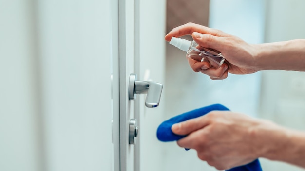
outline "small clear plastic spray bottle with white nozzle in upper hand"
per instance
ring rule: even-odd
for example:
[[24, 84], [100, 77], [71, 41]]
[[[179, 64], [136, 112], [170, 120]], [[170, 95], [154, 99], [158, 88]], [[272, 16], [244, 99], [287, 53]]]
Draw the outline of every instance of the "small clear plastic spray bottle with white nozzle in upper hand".
[[219, 68], [225, 61], [221, 52], [199, 46], [194, 40], [172, 37], [170, 44], [187, 52], [187, 57], [196, 61], [209, 62], [212, 68]]

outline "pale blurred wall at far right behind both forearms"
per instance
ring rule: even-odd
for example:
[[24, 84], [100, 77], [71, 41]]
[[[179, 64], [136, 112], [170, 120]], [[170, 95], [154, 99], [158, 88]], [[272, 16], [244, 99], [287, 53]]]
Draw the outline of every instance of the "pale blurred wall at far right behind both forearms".
[[[305, 38], [305, 1], [268, 0], [266, 42]], [[289, 56], [287, 56], [289, 57]], [[296, 61], [297, 62], [297, 61]], [[305, 130], [305, 73], [295, 71], [262, 72], [260, 117], [283, 126]], [[262, 159], [270, 171], [304, 171], [281, 162]]]

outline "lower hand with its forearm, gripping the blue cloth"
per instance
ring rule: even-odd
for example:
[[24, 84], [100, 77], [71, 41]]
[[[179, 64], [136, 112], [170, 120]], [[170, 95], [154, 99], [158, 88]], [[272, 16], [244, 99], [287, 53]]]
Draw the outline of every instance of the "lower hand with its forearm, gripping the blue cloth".
[[259, 157], [305, 168], [305, 134], [267, 120], [212, 111], [172, 125], [172, 132], [187, 135], [177, 144], [196, 150], [201, 160], [218, 170], [241, 166]]

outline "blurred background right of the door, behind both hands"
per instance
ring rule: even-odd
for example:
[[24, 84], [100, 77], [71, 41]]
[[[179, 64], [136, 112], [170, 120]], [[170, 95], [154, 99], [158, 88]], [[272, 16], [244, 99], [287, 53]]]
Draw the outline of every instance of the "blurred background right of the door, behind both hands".
[[[302, 0], [167, 0], [167, 32], [194, 22], [252, 44], [305, 38], [305, 23], [300, 22], [305, 17], [302, 5], [305, 5]], [[191, 40], [190, 36], [185, 38]], [[305, 130], [302, 105], [305, 104], [305, 73], [260, 71], [249, 75], [229, 74], [225, 80], [211, 81], [208, 76], [191, 70], [184, 51], [169, 44], [166, 48], [166, 87], [171, 87], [165, 95], [168, 118], [181, 111], [221, 103], [233, 111]], [[195, 151], [185, 153], [174, 144], [167, 144], [167, 171], [172, 168], [175, 171], [215, 170], [194, 157]], [[179, 160], [173, 165], [172, 158]], [[261, 159], [261, 163], [265, 171], [304, 171], [266, 159]]]

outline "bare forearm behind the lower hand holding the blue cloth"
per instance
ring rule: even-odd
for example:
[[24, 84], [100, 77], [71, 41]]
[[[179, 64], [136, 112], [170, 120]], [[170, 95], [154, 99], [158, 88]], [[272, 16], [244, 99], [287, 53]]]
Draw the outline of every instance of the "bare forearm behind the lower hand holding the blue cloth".
[[287, 129], [275, 124], [265, 125], [259, 130], [261, 143], [263, 143], [261, 144], [260, 157], [305, 168], [305, 132]]

